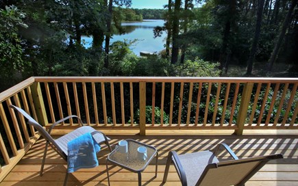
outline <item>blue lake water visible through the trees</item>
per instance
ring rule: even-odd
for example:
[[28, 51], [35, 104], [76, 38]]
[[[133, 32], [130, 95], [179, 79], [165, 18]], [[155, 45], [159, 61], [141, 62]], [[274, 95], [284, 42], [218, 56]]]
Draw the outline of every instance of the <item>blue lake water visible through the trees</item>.
[[[117, 40], [135, 40], [138, 41], [130, 47], [136, 55], [140, 55], [140, 51], [147, 52], [159, 52], [164, 49], [166, 43], [166, 33], [162, 34], [162, 37], [153, 38], [153, 28], [156, 26], [163, 26], [163, 20], [144, 20], [143, 22], [129, 22], [122, 23], [121, 26], [125, 28], [126, 33], [122, 35], [114, 35], [111, 38], [111, 42]], [[85, 47], [91, 47], [92, 37], [82, 36], [82, 40], [85, 40]]]

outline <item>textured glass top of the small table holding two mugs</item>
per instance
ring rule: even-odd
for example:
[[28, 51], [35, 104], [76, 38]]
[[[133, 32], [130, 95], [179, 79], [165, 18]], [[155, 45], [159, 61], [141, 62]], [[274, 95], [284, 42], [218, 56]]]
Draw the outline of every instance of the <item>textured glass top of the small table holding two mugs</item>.
[[[143, 170], [146, 168], [149, 161], [152, 160], [152, 157], [156, 155], [156, 149], [147, 144], [142, 144], [140, 142], [135, 142], [132, 139], [127, 139], [128, 150], [127, 153], [119, 152], [118, 146], [113, 150], [110, 155], [108, 155], [108, 159], [117, 163], [119, 165], [123, 165], [126, 168], [130, 168], [132, 170]], [[138, 147], [145, 146], [147, 148], [147, 159], [139, 160], [138, 159]]]

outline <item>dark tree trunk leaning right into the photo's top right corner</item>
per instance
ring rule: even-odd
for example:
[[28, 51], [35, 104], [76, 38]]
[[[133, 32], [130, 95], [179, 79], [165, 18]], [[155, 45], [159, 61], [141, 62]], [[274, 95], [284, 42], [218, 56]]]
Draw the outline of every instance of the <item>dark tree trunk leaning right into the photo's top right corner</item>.
[[293, 13], [293, 10], [294, 10], [296, 4], [297, 4], [297, 0], [292, 0], [292, 4], [290, 5], [288, 14], [286, 14], [286, 18], [284, 19], [284, 23], [282, 24], [282, 30], [280, 31], [280, 36], [278, 36], [278, 40], [275, 43], [273, 52], [271, 53], [271, 57], [269, 59], [268, 71], [272, 70], [273, 63], [276, 61], [277, 55], [280, 51], [280, 46], [282, 45], [282, 40], [284, 39], [284, 35], [286, 34], [286, 29], [288, 28], [288, 23], [290, 23], [291, 15]]

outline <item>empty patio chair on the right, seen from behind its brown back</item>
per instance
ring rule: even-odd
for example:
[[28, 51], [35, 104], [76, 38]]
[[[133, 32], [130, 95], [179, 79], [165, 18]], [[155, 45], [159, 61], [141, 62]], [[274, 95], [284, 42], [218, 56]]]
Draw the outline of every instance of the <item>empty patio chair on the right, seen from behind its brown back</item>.
[[[216, 158], [216, 153], [223, 146], [232, 156], [232, 160], [221, 161]], [[166, 169], [162, 183], [166, 183], [171, 161], [173, 161], [182, 186], [192, 185], [245, 185], [271, 159], [283, 158], [282, 155], [268, 155], [238, 159], [227, 144], [219, 144], [214, 152], [202, 152], [177, 155], [175, 151], [169, 152]]]

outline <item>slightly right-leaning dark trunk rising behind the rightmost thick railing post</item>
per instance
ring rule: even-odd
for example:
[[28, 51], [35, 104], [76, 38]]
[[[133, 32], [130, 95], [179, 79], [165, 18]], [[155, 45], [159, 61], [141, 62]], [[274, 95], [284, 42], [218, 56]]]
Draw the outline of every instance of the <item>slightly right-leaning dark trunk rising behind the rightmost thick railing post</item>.
[[247, 64], [248, 64], [247, 72], [246, 72], [247, 75], [251, 75], [251, 71], [253, 70], [253, 60], [255, 59], [255, 56], [256, 56], [258, 41], [261, 33], [263, 6], [264, 6], [264, 0], [260, 0], [258, 5], [255, 35], [253, 36], [253, 43], [251, 44], [251, 51], [249, 53], [249, 59], [247, 61]]

